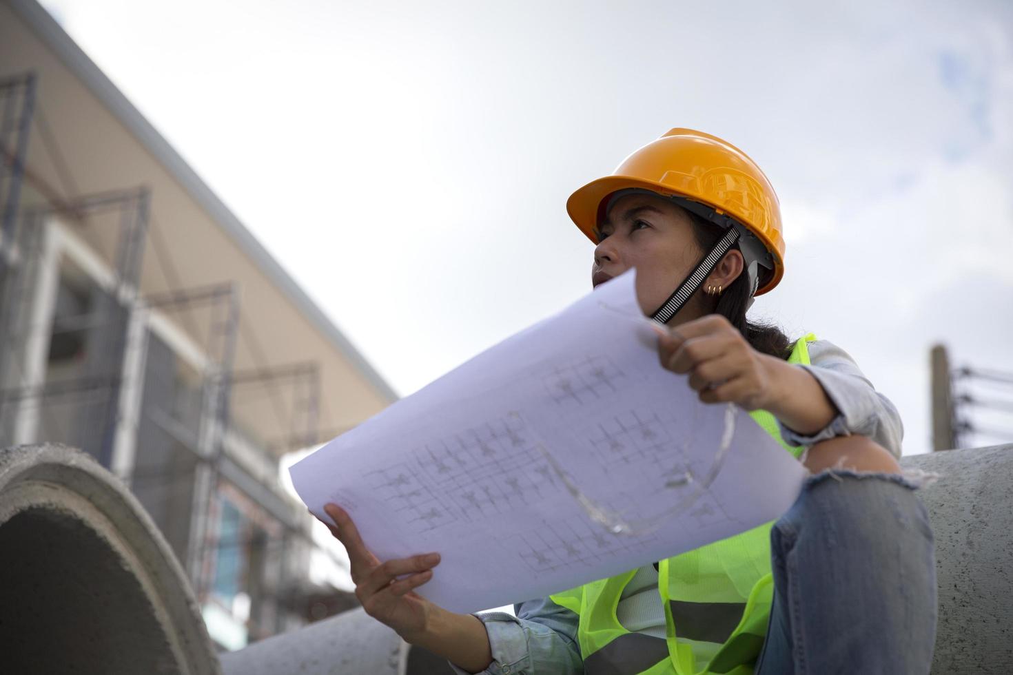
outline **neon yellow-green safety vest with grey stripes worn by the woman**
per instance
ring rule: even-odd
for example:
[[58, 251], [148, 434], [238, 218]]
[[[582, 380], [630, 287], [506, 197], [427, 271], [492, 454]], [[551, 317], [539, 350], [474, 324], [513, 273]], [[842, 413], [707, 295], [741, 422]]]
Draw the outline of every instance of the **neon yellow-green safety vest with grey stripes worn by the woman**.
[[[809, 363], [808, 334], [798, 340], [789, 363]], [[777, 419], [751, 413], [756, 422], [795, 457], [802, 447], [781, 438]], [[658, 563], [658, 593], [667, 640], [631, 632], [616, 618], [623, 589], [636, 570], [553, 594], [552, 601], [579, 616], [577, 642], [587, 675], [748, 675], [760, 655], [770, 619], [774, 582], [770, 570], [773, 522]], [[699, 663], [694, 646], [716, 654]]]

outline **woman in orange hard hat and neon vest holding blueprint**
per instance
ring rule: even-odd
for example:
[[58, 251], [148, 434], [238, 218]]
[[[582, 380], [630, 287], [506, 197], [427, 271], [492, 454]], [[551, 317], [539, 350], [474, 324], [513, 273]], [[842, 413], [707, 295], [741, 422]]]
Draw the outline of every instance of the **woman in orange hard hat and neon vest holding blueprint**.
[[753, 324], [783, 274], [777, 196], [745, 153], [675, 129], [567, 210], [596, 243], [595, 285], [637, 270], [665, 326], [660, 366], [705, 403], [733, 402], [812, 476], [776, 522], [639, 570], [515, 605], [456, 614], [412, 592], [438, 554], [381, 563], [328, 505], [366, 611], [457, 672], [927, 673], [932, 533], [901, 476], [901, 420], [841, 349]]

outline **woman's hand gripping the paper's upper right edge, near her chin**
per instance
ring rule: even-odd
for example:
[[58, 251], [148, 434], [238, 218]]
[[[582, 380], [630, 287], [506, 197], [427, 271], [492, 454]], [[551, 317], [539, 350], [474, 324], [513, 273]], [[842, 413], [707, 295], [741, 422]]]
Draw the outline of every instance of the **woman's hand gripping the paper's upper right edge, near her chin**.
[[711, 314], [657, 339], [661, 366], [689, 374], [704, 403], [731, 402], [746, 410], [768, 408], [775, 398], [772, 357], [754, 349], [724, 317]]

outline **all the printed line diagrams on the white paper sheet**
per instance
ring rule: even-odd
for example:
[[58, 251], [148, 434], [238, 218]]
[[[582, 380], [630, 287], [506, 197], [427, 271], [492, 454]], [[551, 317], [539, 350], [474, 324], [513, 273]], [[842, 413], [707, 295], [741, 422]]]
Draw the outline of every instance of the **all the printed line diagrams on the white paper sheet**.
[[[601, 368], [607, 377], [622, 376], [618, 371], [609, 373], [609, 367], [608, 359], [603, 357], [583, 359], [563, 366], [559, 371], [591, 373]], [[556, 382], [557, 374], [553, 372], [549, 382]], [[591, 383], [590, 387], [572, 389], [570, 393], [573, 396], [593, 396], [596, 388], [606, 386], [598, 381]], [[565, 407], [568, 403], [561, 398], [555, 400], [555, 405]], [[667, 498], [680, 489], [678, 484], [681, 478], [705, 473], [706, 467], [694, 470], [687, 459], [687, 444], [692, 439], [677, 441], [673, 438], [654, 410], [622, 411], [600, 419], [591, 429], [580, 431], [575, 430], [573, 436], [583, 439], [588, 447], [586, 458], [592, 460], [602, 473], [608, 475], [622, 470], [629, 475], [633, 472], [639, 477], [641, 485], [653, 486], [649, 489], [650, 494], [665, 493], [663, 502], [671, 502]], [[407, 453], [407, 461], [371, 472], [366, 479], [375, 495], [395, 512], [405, 513], [406, 522], [415, 531], [423, 533], [452, 523], [483, 522], [489, 517], [506, 515], [522, 507], [537, 508], [544, 499], [557, 496], [565, 490], [565, 486], [556, 475], [556, 470], [546, 460], [545, 451], [551, 453], [551, 448], [540, 445], [521, 415], [508, 413], [494, 421], [452, 432], [412, 448]], [[633, 498], [624, 500], [617, 513], [634, 519], [649, 517], [651, 514], [629, 510], [637, 501]], [[706, 491], [687, 508], [692, 522], [700, 526], [727, 518], [719, 503]], [[574, 526], [572, 523], [567, 525], [570, 529]], [[603, 532], [600, 524], [587, 520], [580, 527], [588, 530], [580, 534], [581, 537], [597, 537], [589, 551], [609, 551], [606, 543], [610, 541], [610, 545], [623, 546], [621, 541], [613, 541], [613, 534]], [[548, 536], [553, 542], [554, 547], [550, 550], [540, 547], [536, 540], [519, 549], [537, 552], [531, 553], [525, 562], [538, 569], [551, 570], [562, 564], [552, 562], [559, 546], [567, 554], [559, 558], [561, 561], [573, 558], [569, 555], [572, 554], [571, 547], [585, 545], [579, 543], [582, 539], [574, 539], [568, 534], [561, 536], [558, 533], [538, 532], [528, 536]], [[600, 556], [596, 554], [594, 557]], [[573, 560], [589, 560], [589, 557], [581, 554]]]

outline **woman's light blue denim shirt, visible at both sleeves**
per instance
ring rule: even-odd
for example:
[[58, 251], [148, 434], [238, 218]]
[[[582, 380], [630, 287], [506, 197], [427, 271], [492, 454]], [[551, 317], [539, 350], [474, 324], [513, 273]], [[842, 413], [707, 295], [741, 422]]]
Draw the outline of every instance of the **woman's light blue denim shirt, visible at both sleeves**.
[[[904, 426], [890, 401], [872, 387], [854, 359], [827, 340], [808, 345], [808, 370], [823, 387], [839, 414], [810, 436], [802, 436], [781, 425], [781, 436], [790, 445], [812, 445], [837, 436], [860, 434], [876, 441], [894, 456], [901, 456]], [[576, 641], [577, 615], [549, 598], [526, 600], [514, 605], [517, 616], [506, 612], [483, 612], [476, 616], [485, 625], [492, 663], [482, 675], [577, 675], [583, 672]], [[467, 675], [451, 664], [459, 675]]]

